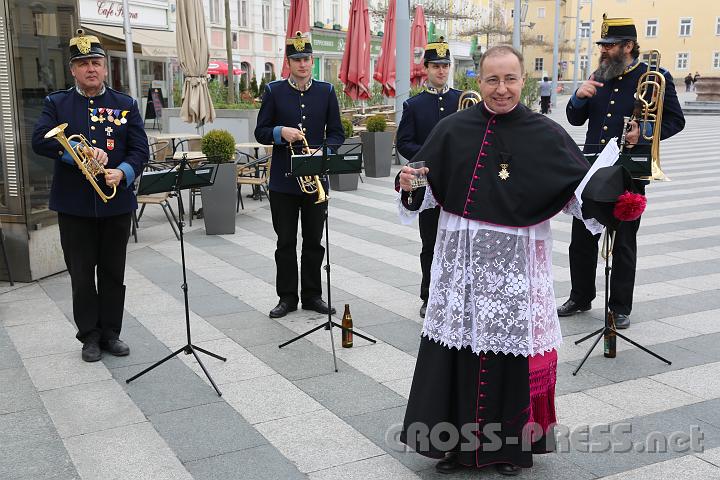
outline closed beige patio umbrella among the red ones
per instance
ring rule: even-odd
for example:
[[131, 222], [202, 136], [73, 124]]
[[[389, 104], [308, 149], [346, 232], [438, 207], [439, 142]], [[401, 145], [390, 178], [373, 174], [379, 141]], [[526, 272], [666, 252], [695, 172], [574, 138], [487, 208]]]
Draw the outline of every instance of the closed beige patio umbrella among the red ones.
[[210, 53], [202, 0], [178, 0], [175, 28], [178, 59], [185, 75], [180, 118], [200, 127], [215, 120], [207, 86]]

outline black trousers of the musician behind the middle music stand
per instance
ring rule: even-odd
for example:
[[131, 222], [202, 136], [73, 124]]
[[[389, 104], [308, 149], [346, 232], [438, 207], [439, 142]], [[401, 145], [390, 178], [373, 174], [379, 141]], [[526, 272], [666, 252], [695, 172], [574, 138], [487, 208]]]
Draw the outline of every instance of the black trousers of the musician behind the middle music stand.
[[302, 227], [300, 298], [304, 302], [322, 295], [320, 270], [325, 247], [321, 242], [327, 203], [315, 204], [316, 199], [315, 195], [270, 192], [273, 228], [278, 236], [275, 249], [275, 289], [280, 300], [291, 305], [298, 303], [298, 216]]

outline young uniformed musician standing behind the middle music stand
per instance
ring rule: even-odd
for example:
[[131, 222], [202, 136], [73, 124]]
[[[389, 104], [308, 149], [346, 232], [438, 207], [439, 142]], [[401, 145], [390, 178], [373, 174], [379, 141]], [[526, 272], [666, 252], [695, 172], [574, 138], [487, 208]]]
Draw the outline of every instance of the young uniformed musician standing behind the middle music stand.
[[[327, 203], [315, 203], [317, 195], [300, 190], [290, 176], [290, 148], [302, 152], [303, 137], [311, 147], [341, 145], [345, 141], [340, 108], [332, 84], [312, 79], [312, 44], [297, 32], [287, 40], [285, 53], [290, 65], [287, 80], [270, 82], [265, 87], [258, 113], [255, 138], [273, 145], [270, 166], [270, 211], [278, 236], [275, 250], [277, 276], [275, 288], [280, 300], [270, 318], [280, 318], [302, 308], [328, 313], [322, 300], [320, 269], [325, 248], [322, 246]], [[331, 147], [332, 148], [332, 147]], [[323, 180], [323, 187], [328, 188]], [[298, 297], [297, 230], [302, 222], [300, 258], [300, 296]], [[332, 309], [335, 313], [335, 309]]]

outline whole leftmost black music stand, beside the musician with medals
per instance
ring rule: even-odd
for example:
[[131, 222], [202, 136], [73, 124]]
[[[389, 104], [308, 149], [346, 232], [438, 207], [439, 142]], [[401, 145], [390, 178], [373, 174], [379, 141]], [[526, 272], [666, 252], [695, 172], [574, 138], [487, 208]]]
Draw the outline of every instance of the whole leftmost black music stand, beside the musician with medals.
[[145, 375], [150, 370], [154, 369], [155, 367], [159, 367], [171, 358], [179, 355], [181, 352], [185, 353], [185, 355], [190, 355], [192, 353], [195, 356], [198, 364], [200, 365], [200, 368], [202, 368], [202, 371], [205, 373], [205, 376], [208, 378], [208, 380], [210, 380], [210, 383], [217, 392], [218, 396], [222, 396], [222, 393], [220, 393], [220, 390], [215, 384], [215, 381], [208, 373], [205, 365], [203, 365], [196, 350], [198, 352], [204, 353], [205, 355], [209, 355], [213, 358], [217, 358], [218, 360], [222, 360], [223, 362], [227, 361], [227, 359], [215, 353], [209, 352], [204, 348], [198, 347], [197, 345], [193, 345], [192, 338], [190, 336], [190, 305], [188, 303], [187, 272], [185, 268], [185, 240], [183, 237], [183, 226], [185, 225], [185, 222], [183, 221], [183, 216], [185, 214], [185, 210], [183, 209], [181, 194], [182, 190], [186, 190], [188, 188], [207, 187], [215, 183], [217, 165], [206, 164], [198, 166], [196, 168], [192, 168], [188, 163], [187, 154], [183, 155], [179, 164], [175, 162], [155, 162], [153, 163], [153, 165], [159, 166], [161, 168], [172, 166], [173, 168], [164, 168], [157, 171], [148, 171], [143, 173], [143, 176], [140, 178], [140, 184], [138, 186], [138, 194], [148, 195], [151, 193], [165, 193], [172, 191], [176, 194], [178, 199], [178, 230], [180, 231], [180, 256], [182, 259], [183, 269], [183, 283], [180, 288], [182, 289], [183, 296], [185, 298], [185, 331], [187, 334], [187, 343], [183, 347], [175, 350], [167, 357], [149, 366], [142, 372], [128, 378], [127, 380], [125, 380], [125, 383], [130, 383], [136, 378]]

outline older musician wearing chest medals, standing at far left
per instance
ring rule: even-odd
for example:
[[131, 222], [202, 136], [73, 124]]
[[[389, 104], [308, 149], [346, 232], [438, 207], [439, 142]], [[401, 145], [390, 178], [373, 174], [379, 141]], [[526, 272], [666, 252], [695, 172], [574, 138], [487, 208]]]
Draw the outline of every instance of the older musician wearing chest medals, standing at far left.
[[[137, 208], [133, 182], [149, 152], [137, 103], [105, 85], [107, 63], [97, 37], [78, 30], [70, 40], [70, 72], [75, 86], [45, 98], [32, 146], [35, 153], [55, 161], [50, 209], [58, 214], [82, 358], [93, 362], [100, 360], [101, 350], [117, 356], [130, 352], [119, 339], [125, 254], [131, 215]], [[68, 124], [66, 136], [84, 135], [92, 148], [90, 155], [105, 165], [105, 175], [96, 180], [108, 194], [116, 188], [107, 203], [60, 143], [44, 138], [61, 123]]]

